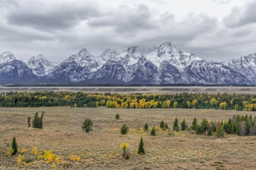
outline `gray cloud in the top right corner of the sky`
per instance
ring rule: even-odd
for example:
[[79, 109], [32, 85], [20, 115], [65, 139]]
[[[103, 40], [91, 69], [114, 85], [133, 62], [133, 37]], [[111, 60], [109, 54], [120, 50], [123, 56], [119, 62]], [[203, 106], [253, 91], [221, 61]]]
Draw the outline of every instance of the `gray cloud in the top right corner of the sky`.
[[241, 27], [256, 23], [256, 1], [249, 1], [242, 7], [233, 7], [231, 13], [223, 18], [226, 27]]

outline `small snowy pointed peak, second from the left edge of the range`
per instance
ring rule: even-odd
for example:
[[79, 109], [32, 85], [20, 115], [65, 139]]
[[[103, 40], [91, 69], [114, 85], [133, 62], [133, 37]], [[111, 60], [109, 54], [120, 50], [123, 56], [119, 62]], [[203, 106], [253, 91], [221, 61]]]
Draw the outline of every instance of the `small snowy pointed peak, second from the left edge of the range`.
[[46, 60], [41, 54], [36, 57], [32, 56], [26, 64], [38, 77], [48, 77], [57, 66], [52, 61]]

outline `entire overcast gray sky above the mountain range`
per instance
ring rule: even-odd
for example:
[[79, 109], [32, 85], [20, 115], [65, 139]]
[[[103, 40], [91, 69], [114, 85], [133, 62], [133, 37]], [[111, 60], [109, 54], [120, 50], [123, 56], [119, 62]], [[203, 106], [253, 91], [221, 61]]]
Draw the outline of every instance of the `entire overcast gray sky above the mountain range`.
[[211, 61], [256, 52], [255, 0], [0, 1], [0, 53], [23, 61], [167, 41]]

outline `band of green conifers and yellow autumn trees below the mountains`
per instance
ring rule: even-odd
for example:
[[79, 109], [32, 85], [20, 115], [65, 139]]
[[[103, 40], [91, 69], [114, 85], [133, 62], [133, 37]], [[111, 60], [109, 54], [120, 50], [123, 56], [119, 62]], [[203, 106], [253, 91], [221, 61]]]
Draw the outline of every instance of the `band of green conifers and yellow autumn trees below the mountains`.
[[250, 94], [87, 94], [84, 92], [2, 92], [0, 107], [116, 107], [131, 109], [183, 108], [256, 110], [256, 95]]

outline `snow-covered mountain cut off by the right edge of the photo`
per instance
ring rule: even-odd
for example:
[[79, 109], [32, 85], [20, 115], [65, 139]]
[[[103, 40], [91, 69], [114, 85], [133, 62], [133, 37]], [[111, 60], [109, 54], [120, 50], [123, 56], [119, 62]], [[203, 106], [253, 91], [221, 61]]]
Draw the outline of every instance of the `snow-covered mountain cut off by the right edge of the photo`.
[[241, 55], [223, 63], [256, 83], [256, 53]]

